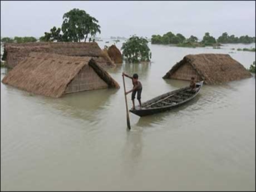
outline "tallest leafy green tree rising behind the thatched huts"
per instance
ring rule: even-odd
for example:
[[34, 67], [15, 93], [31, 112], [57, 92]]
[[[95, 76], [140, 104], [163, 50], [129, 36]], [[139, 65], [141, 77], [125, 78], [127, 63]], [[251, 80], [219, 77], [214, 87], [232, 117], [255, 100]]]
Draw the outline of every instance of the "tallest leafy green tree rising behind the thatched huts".
[[64, 41], [80, 42], [88, 35], [101, 33], [99, 21], [80, 9], [72, 9], [63, 15], [62, 32]]

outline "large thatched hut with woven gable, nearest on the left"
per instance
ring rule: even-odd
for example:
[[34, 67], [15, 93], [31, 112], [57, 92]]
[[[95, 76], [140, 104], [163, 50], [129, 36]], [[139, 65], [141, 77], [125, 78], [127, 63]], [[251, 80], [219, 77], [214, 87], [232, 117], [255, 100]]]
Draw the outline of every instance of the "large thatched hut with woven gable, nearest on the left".
[[66, 93], [120, 88], [92, 57], [31, 52], [3, 78], [3, 83], [38, 95], [61, 97]]

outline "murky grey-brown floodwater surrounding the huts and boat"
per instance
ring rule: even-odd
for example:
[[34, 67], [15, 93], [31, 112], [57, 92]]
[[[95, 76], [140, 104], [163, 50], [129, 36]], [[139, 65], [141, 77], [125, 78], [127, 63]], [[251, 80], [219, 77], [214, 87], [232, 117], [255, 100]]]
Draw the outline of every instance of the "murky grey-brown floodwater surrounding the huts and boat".
[[130, 131], [121, 77], [138, 73], [146, 101], [188, 85], [161, 78], [185, 55], [228, 53], [249, 68], [255, 52], [230, 49], [252, 46], [150, 45], [151, 63], [109, 70], [119, 90], [60, 99], [1, 82], [1, 190], [255, 190], [255, 76], [204, 85], [170, 112], [130, 114]]

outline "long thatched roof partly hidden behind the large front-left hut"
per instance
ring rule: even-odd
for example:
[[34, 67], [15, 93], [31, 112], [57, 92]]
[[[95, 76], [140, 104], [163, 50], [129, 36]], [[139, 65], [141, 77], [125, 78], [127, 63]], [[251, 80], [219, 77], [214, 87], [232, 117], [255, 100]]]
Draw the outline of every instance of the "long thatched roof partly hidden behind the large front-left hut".
[[[96, 42], [36, 42], [36, 43], [6, 43], [4, 57], [7, 66], [13, 68], [31, 52], [56, 53], [66, 56], [95, 57], [101, 67], [114, 67], [115, 63], [106, 57]], [[4, 58], [3, 57], [3, 58]]]

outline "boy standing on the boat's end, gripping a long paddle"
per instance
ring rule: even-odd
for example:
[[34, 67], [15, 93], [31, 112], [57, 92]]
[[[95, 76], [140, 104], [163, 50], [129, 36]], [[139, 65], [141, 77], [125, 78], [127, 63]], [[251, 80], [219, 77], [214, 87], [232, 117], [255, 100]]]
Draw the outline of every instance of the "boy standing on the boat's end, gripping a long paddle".
[[124, 72], [122, 73], [122, 76], [131, 78], [132, 80], [132, 85], [134, 85], [134, 87], [132, 88], [132, 90], [125, 92], [125, 95], [131, 93], [131, 100], [132, 100], [132, 109], [135, 110], [135, 95], [137, 93], [137, 100], [139, 101], [140, 104], [140, 109], [141, 109], [141, 92], [142, 92], [142, 84], [141, 82], [138, 80], [139, 76], [137, 75], [137, 73], [134, 73], [134, 75], [131, 77], [127, 74], [125, 74]]

